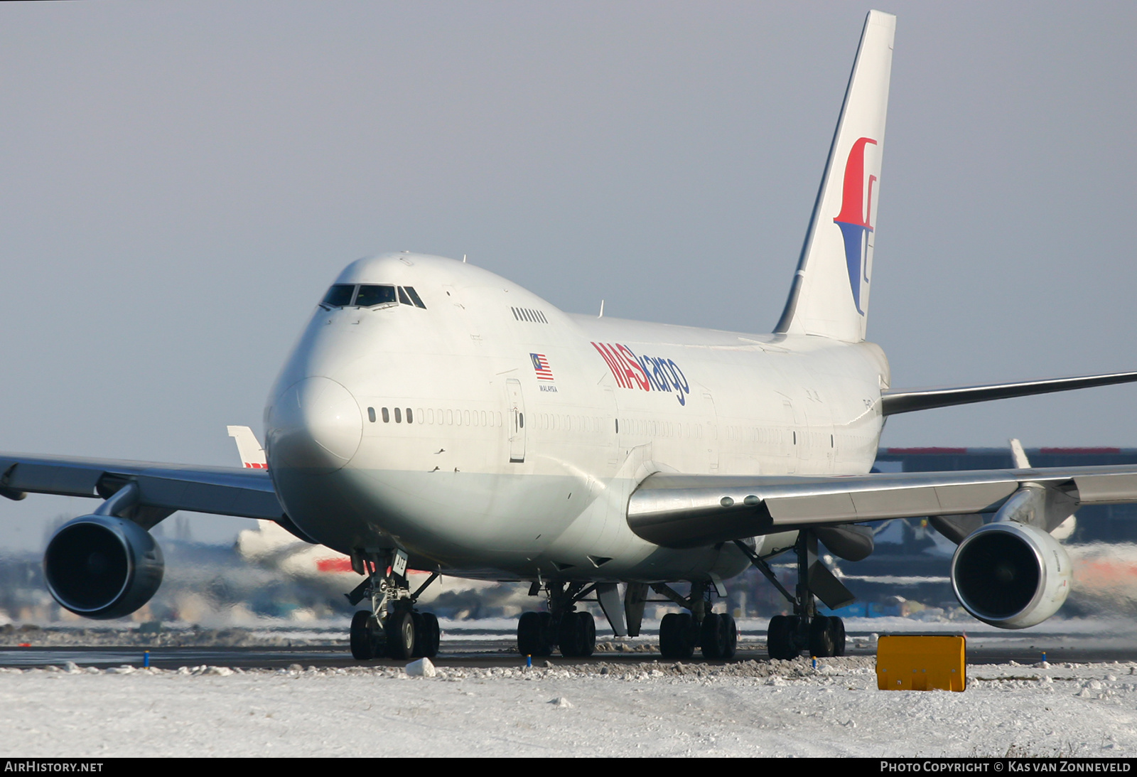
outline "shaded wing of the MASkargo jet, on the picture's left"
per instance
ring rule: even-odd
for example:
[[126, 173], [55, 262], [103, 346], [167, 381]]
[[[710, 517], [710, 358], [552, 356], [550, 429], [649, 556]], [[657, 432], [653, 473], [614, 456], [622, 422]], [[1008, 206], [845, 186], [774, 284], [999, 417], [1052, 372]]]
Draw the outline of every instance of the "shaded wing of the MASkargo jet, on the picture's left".
[[149, 526], [176, 510], [269, 521], [284, 514], [260, 469], [0, 453], [0, 495], [9, 499], [27, 494], [105, 499], [128, 483], [138, 486], [139, 522]]

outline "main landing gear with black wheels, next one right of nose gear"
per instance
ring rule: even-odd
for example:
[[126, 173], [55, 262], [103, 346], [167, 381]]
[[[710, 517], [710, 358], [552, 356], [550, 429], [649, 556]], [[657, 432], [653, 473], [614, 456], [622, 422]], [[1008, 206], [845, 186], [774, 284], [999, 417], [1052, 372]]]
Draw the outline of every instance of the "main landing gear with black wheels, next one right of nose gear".
[[536, 596], [545, 588], [548, 612], [525, 612], [517, 621], [517, 652], [522, 655], [553, 655], [556, 647], [566, 659], [587, 658], [596, 650], [596, 619], [592, 613], [576, 610], [576, 602], [596, 590], [583, 582], [534, 582], [529, 593]]

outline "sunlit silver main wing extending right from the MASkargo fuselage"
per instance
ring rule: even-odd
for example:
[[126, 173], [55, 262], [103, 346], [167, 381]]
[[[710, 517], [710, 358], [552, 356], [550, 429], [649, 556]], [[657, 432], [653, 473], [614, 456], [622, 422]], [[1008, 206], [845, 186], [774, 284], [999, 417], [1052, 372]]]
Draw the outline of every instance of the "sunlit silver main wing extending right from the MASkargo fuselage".
[[632, 493], [628, 524], [665, 547], [893, 518], [995, 512], [1023, 483], [1074, 506], [1137, 502], [1137, 465], [844, 477], [653, 474]]

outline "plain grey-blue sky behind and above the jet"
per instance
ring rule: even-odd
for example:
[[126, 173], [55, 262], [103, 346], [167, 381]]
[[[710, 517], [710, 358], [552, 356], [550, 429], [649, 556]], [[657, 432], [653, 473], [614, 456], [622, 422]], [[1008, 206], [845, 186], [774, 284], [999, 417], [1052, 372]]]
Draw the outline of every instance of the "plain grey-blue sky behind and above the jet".
[[[260, 432], [314, 303], [385, 250], [769, 331], [868, 8], [0, 3], [0, 449], [236, 464], [225, 425]], [[894, 386], [1137, 369], [1137, 3], [882, 10], [869, 334]], [[930, 411], [882, 441], [1137, 446], [1135, 405]], [[0, 543], [91, 507], [5, 501]]]

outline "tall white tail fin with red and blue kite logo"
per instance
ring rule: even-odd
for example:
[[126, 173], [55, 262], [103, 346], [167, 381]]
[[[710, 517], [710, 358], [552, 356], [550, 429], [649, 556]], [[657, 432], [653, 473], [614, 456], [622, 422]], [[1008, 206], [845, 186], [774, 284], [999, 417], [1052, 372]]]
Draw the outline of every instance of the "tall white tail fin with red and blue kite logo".
[[775, 333], [864, 339], [896, 17], [869, 11]]

